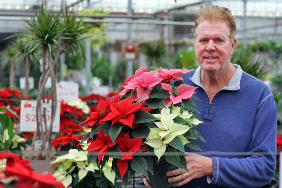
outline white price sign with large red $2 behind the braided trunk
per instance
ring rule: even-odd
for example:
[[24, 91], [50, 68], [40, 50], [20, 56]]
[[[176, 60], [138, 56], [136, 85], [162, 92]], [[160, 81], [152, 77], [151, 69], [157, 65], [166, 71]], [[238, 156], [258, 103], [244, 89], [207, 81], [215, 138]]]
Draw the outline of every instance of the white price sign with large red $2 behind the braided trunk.
[[[51, 122], [51, 103], [45, 104], [44, 108], [46, 108], [46, 122], [47, 127], [50, 126]], [[57, 103], [57, 109], [56, 109], [56, 115], [53, 122], [52, 132], [59, 132], [60, 130], [60, 109], [61, 109], [61, 103]], [[43, 111], [43, 107], [42, 107]], [[44, 122], [44, 117], [41, 120]], [[26, 132], [31, 131], [35, 132], [37, 127], [36, 122], [36, 101], [32, 100], [21, 100], [21, 120], [20, 120], [21, 126], [20, 131]], [[43, 124], [43, 130], [45, 131], [44, 124]]]

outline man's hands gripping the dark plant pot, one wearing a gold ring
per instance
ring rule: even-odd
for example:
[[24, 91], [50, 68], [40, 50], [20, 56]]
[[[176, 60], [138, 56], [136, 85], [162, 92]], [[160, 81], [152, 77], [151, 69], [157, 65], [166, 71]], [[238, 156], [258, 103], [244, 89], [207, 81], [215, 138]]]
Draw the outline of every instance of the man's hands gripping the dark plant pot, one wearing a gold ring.
[[[189, 172], [186, 172], [183, 169], [176, 169], [176, 170], [172, 170], [166, 173], [167, 176], [178, 175], [178, 176], [169, 178], [168, 182], [177, 182], [183, 179], [182, 182], [180, 182], [177, 185], [174, 185], [174, 187], [184, 185], [195, 178], [203, 177], [205, 175], [213, 175], [214, 170], [213, 170], [213, 164], [212, 164], [211, 158], [204, 157], [202, 155], [198, 155], [194, 153], [185, 152], [185, 159], [187, 162], [187, 169]], [[144, 179], [143, 179], [143, 182], [145, 184]]]

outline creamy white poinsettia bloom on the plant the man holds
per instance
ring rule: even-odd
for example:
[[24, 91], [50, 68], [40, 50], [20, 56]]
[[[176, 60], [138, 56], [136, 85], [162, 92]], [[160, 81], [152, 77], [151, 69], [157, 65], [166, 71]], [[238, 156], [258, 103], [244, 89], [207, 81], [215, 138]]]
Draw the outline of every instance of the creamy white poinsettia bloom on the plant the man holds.
[[[170, 113], [170, 109], [167, 107], [163, 108], [160, 114], [153, 114], [153, 116], [158, 118], [160, 121], [154, 122], [157, 127], [150, 128], [150, 133], [145, 143], [154, 148], [154, 153], [159, 160], [166, 151], [167, 144], [169, 144], [169, 142], [171, 142], [175, 137], [181, 138], [183, 144], [187, 144], [189, 142], [183, 134], [191, 127], [189, 125], [182, 125], [173, 121], [173, 119], [179, 116], [179, 114], [181, 115], [178, 108], [174, 109], [172, 113]], [[184, 115], [184, 117], [187, 116], [188, 114]]]

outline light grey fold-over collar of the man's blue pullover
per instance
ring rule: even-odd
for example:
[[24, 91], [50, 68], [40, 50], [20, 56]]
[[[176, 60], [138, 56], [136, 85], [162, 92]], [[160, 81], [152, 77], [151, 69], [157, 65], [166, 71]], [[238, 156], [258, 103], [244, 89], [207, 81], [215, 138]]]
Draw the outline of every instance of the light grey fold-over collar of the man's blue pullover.
[[[231, 77], [231, 79], [229, 80], [229, 82], [226, 84], [226, 86], [224, 86], [225, 90], [239, 90], [240, 89], [240, 81], [241, 81], [241, 77], [243, 74], [243, 70], [241, 69], [241, 67], [239, 65], [233, 64], [232, 65], [234, 67], [237, 68], [237, 70], [235, 71], [234, 75]], [[190, 80], [203, 88], [202, 82], [201, 82], [201, 78], [200, 78], [200, 72], [201, 72], [201, 66], [199, 66], [196, 70], [195, 73], [193, 75], [192, 78], [190, 78]]]

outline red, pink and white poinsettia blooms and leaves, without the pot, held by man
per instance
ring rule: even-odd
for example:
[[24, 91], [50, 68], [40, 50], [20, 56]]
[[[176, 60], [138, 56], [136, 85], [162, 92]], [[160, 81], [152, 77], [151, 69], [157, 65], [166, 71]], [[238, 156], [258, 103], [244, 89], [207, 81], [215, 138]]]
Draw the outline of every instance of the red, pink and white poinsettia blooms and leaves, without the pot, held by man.
[[88, 161], [99, 168], [113, 158], [112, 171], [127, 184], [135, 172], [148, 177], [153, 163], [161, 160], [188, 171], [184, 146], [200, 150], [204, 141], [196, 126], [202, 121], [192, 98], [195, 89], [181, 76], [189, 70], [141, 67], [127, 78], [119, 93], [100, 99], [95, 112], [81, 125]]

